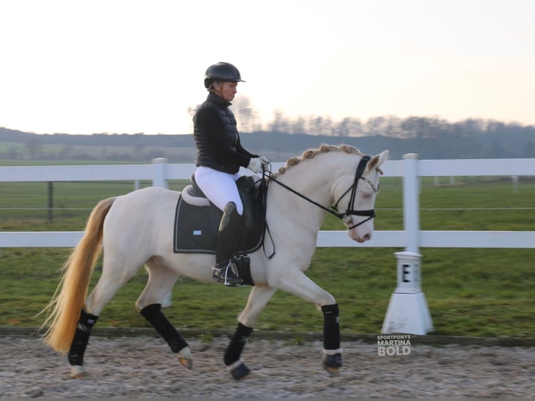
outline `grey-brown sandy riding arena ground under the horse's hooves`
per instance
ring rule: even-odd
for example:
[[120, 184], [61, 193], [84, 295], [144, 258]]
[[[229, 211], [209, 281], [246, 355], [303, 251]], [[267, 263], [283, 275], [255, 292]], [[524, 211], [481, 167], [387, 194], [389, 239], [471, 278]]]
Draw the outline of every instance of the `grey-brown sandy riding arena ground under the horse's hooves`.
[[[253, 336], [254, 337], [254, 336]], [[187, 339], [186, 370], [158, 337], [92, 337], [85, 379], [70, 379], [66, 356], [38, 337], [0, 337], [1, 398], [511, 398], [535, 396], [535, 348], [411, 345], [379, 356], [377, 344], [343, 342], [337, 377], [321, 366], [321, 342], [254, 340], [247, 379], [224, 367], [226, 337]]]

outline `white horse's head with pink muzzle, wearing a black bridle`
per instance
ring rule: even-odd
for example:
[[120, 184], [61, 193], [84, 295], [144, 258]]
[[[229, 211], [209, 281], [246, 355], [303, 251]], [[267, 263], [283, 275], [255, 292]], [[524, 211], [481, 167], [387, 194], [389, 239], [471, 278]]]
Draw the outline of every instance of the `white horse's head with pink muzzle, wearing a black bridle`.
[[348, 229], [347, 235], [357, 242], [371, 240], [374, 233], [375, 198], [379, 192], [381, 165], [388, 159], [388, 150], [373, 157], [363, 156], [356, 171], [337, 180], [333, 208]]

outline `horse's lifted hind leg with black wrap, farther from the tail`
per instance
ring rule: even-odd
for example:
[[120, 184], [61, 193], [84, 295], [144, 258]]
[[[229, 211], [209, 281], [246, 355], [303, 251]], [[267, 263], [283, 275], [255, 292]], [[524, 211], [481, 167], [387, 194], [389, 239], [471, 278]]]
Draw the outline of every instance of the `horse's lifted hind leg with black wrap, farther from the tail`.
[[135, 302], [135, 307], [163, 337], [163, 340], [166, 340], [171, 351], [177, 353], [180, 364], [191, 369], [193, 361], [188, 343], [168, 321], [166, 315], [161, 312], [161, 302], [167, 293], [173, 289], [178, 273], [159, 263], [156, 258], [147, 261], [146, 265], [149, 272], [149, 281], [140, 298]]

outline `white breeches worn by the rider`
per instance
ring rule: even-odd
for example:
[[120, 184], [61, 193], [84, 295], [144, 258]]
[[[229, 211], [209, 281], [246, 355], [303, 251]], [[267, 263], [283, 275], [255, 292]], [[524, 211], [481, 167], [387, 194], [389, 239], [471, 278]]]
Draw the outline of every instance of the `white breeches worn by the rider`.
[[223, 173], [205, 166], [199, 166], [195, 170], [197, 185], [207, 198], [221, 211], [225, 209], [227, 203], [234, 202], [240, 216], [243, 214], [243, 204], [240, 193], [237, 191], [236, 180], [241, 176], [240, 173]]

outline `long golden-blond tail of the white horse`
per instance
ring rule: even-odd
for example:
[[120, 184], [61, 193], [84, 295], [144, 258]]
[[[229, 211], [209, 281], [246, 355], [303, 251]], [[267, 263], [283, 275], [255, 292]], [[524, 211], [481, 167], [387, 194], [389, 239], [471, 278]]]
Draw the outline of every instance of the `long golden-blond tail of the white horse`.
[[89, 279], [101, 253], [104, 219], [116, 198], [100, 201], [89, 215], [85, 233], [62, 268], [63, 275], [52, 300], [43, 309], [43, 312], [50, 312], [53, 308], [42, 326], [50, 323], [43, 341], [61, 353], [68, 352], [71, 347]]

